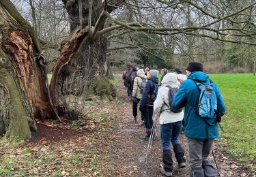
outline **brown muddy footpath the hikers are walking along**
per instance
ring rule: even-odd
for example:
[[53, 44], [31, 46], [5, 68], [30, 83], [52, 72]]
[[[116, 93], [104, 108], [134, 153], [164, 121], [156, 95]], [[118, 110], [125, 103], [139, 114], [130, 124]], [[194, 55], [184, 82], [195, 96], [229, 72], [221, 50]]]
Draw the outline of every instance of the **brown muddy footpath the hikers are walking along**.
[[[115, 131], [115, 172], [114, 176], [163, 176], [159, 170], [162, 165], [162, 151], [160, 145], [160, 127], [157, 123], [156, 131], [158, 138], [152, 144], [150, 157], [145, 162], [145, 152], [147, 150], [147, 141], [139, 139], [140, 135], [145, 135], [145, 127], [140, 127], [141, 115], [138, 110], [137, 123], [134, 122], [132, 116], [132, 101], [126, 96], [125, 88], [121, 78], [117, 78], [118, 97], [122, 97], [122, 109], [120, 110], [121, 118], [119, 125]], [[180, 135], [180, 142], [185, 150], [186, 167], [177, 170], [177, 162], [173, 155], [173, 176], [189, 176], [189, 155], [188, 144], [184, 134]], [[229, 155], [222, 152], [221, 149], [214, 144], [214, 155], [221, 176], [253, 176], [246, 167], [246, 164], [238, 163]], [[216, 167], [214, 157], [210, 155], [210, 161]], [[218, 175], [217, 175], [218, 176]]]

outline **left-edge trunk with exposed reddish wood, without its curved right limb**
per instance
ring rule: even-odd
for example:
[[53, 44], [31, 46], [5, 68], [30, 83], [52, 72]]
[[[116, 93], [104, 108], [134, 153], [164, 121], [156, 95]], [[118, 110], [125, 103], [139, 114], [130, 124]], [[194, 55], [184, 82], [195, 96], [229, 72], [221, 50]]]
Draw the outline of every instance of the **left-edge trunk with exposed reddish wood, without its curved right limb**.
[[[6, 8], [8, 7], [8, 8]], [[8, 9], [8, 10], [7, 10]], [[34, 58], [31, 35], [10, 15], [10, 1], [0, 3], [0, 133], [27, 139], [36, 129], [34, 117], [51, 117], [42, 67]], [[15, 14], [16, 15], [16, 14]]]

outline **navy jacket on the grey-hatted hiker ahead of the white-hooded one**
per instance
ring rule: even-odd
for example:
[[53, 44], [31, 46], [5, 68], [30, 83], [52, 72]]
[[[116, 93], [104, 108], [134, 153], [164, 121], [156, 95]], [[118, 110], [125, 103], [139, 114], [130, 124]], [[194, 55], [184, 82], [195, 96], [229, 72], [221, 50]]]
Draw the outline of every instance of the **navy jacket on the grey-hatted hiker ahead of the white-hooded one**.
[[145, 89], [142, 93], [141, 97], [141, 103], [139, 105], [139, 108], [143, 109], [146, 105], [153, 105], [154, 102], [147, 97], [147, 95], [154, 92], [155, 85], [158, 86], [158, 77], [156, 76], [150, 76], [150, 78], [147, 78], [147, 82], [145, 84]]

